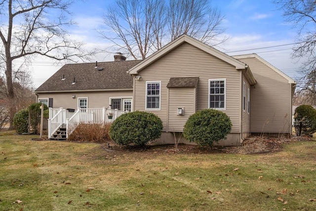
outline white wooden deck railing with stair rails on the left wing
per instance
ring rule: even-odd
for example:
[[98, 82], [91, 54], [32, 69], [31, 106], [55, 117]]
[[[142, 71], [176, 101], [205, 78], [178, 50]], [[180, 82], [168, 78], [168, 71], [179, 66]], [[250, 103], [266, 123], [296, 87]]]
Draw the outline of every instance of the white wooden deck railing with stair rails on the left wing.
[[125, 111], [119, 111], [106, 108], [78, 108], [75, 112], [70, 112], [67, 109], [49, 108], [48, 119], [48, 134], [49, 138], [53, 136], [56, 130], [63, 124], [66, 125], [67, 138], [75, 128], [80, 124], [104, 124], [112, 123], [120, 115], [126, 113]]

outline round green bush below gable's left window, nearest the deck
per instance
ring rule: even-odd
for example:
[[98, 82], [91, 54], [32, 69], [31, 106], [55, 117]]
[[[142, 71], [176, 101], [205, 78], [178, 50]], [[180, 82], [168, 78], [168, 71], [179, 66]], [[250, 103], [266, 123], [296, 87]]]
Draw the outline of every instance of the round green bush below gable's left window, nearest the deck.
[[111, 139], [121, 145], [145, 146], [161, 136], [160, 118], [148, 112], [134, 111], [119, 116], [110, 127]]

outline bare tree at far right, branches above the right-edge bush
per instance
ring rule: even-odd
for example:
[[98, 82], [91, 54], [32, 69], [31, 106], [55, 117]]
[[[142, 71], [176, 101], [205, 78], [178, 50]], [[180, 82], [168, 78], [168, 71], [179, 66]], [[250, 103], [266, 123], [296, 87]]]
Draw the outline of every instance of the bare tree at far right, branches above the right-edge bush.
[[300, 76], [296, 78], [297, 97], [316, 105], [316, 1], [315, 0], [275, 0], [283, 11], [285, 20], [296, 28], [297, 38], [293, 47], [293, 58], [304, 59]]

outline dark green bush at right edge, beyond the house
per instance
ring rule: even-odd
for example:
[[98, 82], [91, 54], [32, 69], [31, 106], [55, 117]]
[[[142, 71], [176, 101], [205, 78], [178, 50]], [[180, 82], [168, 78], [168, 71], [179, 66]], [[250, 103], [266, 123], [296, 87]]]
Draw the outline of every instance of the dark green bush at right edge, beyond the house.
[[300, 105], [294, 112], [296, 135], [316, 132], [316, 109], [311, 105]]

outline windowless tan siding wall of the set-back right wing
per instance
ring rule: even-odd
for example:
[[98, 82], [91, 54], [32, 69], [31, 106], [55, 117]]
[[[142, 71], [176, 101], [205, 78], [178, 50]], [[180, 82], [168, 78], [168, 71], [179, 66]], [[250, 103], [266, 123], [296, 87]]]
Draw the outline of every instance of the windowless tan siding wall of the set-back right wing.
[[253, 133], [289, 133], [291, 84], [257, 58], [239, 59], [256, 79], [250, 89], [250, 124]]

